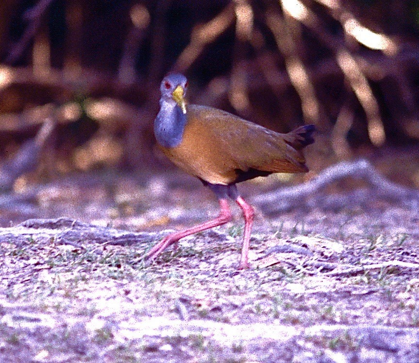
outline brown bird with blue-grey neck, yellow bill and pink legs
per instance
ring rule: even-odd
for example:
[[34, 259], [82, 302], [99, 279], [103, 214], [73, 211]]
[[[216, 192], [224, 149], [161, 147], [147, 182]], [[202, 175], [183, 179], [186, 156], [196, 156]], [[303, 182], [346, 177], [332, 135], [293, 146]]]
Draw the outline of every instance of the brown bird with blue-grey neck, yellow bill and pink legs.
[[314, 142], [314, 125], [300, 126], [280, 134], [226, 111], [186, 104], [188, 80], [167, 74], [160, 84], [160, 110], [154, 120], [157, 146], [177, 167], [212, 190], [220, 214], [205, 223], [166, 236], [145, 254], [154, 261], [169, 245], [189, 235], [224, 225], [232, 220], [228, 199], [235, 201], [244, 216], [239, 270], [250, 267], [248, 252], [254, 208], [236, 184], [272, 173], [308, 172], [303, 149]]

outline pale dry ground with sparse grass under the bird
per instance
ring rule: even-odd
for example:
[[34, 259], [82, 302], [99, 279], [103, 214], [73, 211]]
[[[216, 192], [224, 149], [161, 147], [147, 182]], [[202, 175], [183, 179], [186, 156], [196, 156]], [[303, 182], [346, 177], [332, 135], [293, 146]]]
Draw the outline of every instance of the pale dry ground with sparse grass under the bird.
[[[39, 187], [31, 203], [3, 203], [0, 361], [419, 362], [411, 204], [371, 190], [357, 208], [258, 209], [248, 271], [235, 269], [235, 209], [233, 223], [146, 266], [144, 251], [168, 228], [217, 213], [209, 192], [182, 180], [90, 175]], [[61, 216], [69, 219], [17, 225]], [[128, 245], [62, 235], [95, 226], [147, 233]]]

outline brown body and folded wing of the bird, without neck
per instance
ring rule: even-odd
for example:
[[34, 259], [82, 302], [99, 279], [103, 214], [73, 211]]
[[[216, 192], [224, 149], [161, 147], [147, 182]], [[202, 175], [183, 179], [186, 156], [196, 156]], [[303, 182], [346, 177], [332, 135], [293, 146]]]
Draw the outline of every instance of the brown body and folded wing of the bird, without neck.
[[[279, 134], [228, 112], [189, 105], [182, 142], [162, 148], [178, 167], [212, 184], [230, 184], [270, 173], [307, 168], [294, 136]], [[295, 138], [297, 134], [295, 135]]]

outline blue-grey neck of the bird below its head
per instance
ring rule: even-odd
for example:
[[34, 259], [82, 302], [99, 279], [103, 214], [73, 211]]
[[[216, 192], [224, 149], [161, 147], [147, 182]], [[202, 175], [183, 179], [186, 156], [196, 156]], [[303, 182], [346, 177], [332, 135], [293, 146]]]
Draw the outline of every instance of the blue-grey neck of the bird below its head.
[[175, 147], [182, 141], [186, 115], [173, 100], [160, 99], [160, 111], [154, 120], [154, 135], [163, 147]]

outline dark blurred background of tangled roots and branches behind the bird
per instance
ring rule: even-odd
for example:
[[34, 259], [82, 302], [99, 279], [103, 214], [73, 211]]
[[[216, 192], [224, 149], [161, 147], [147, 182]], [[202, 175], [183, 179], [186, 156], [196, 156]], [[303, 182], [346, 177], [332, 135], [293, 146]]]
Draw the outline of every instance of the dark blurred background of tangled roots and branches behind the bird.
[[174, 170], [152, 131], [171, 70], [190, 103], [315, 123], [305, 178], [362, 156], [419, 187], [418, 0], [3, 0], [2, 189]]

